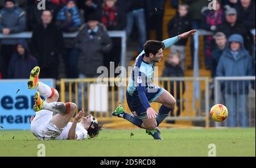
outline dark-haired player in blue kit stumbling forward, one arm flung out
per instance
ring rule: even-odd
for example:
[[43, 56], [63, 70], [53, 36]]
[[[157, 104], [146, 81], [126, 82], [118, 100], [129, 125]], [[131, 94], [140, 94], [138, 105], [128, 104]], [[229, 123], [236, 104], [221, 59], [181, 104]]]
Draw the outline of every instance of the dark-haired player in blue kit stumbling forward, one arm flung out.
[[[144, 44], [144, 51], [135, 60], [126, 91], [127, 104], [133, 115], [126, 113], [122, 106], [117, 107], [112, 115], [123, 117], [134, 125], [146, 129], [148, 135], [162, 140], [158, 125], [166, 119], [170, 111], [174, 110], [176, 100], [168, 91], [152, 83], [155, 64], [161, 61], [163, 49], [195, 33], [196, 30], [191, 30], [162, 42], [147, 41]], [[162, 104], [158, 115], [150, 106], [151, 102]]]

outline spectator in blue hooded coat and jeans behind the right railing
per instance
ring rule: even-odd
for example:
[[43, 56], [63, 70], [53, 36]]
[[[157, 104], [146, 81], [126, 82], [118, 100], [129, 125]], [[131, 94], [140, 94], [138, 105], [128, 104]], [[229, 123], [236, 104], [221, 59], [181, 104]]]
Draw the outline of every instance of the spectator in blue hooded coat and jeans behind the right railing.
[[[243, 37], [234, 34], [228, 39], [228, 48], [224, 51], [218, 62], [216, 75], [218, 77], [253, 75], [252, 61], [250, 54], [243, 45]], [[226, 81], [226, 83], [222, 83], [223, 86], [225, 104], [229, 109], [228, 127], [248, 127], [247, 96], [249, 93], [249, 82]], [[237, 125], [237, 118], [239, 119], [239, 125]]]

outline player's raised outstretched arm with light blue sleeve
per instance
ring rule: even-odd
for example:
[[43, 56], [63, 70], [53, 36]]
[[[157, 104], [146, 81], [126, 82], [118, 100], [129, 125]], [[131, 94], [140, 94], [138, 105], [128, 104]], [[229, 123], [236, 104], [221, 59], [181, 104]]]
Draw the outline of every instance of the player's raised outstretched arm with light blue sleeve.
[[187, 39], [189, 36], [195, 35], [196, 30], [191, 30], [185, 33], [182, 33], [180, 35], [177, 35], [175, 37], [163, 40], [162, 42], [164, 43], [164, 49], [167, 49], [177, 43], [177, 41], [182, 40], [182, 39]]

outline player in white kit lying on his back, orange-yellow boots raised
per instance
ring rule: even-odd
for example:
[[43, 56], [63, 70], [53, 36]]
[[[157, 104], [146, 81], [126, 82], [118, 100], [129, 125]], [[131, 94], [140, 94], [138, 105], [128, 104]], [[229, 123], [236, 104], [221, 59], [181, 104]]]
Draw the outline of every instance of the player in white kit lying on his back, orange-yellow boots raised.
[[[76, 104], [57, 102], [59, 93], [39, 82], [39, 73], [40, 68], [36, 66], [28, 81], [28, 89], [38, 90], [34, 97], [36, 116], [31, 117], [31, 132], [39, 140], [83, 140], [88, 135], [90, 138], [98, 136], [103, 124], [98, 123], [92, 115], [83, 117], [83, 109], [75, 116], [73, 123], [70, 122]], [[41, 99], [40, 94], [47, 99]]]

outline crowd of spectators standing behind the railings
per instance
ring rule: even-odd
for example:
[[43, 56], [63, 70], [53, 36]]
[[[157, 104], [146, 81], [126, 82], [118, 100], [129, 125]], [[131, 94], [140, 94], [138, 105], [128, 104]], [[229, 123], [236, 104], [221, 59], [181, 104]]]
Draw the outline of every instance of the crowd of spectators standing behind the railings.
[[[138, 54], [150, 39], [151, 30], [155, 30], [155, 40], [163, 40], [167, 2], [170, 1], [46, 0], [46, 10], [39, 10], [41, 1], [38, 0], [0, 1], [2, 35], [32, 32], [27, 41], [0, 39], [0, 79], [27, 78], [35, 65], [43, 69], [41, 78], [58, 79], [59, 58], [63, 59], [66, 78], [97, 77], [97, 67], [109, 68], [111, 61], [118, 66], [121, 59], [121, 39], [110, 38], [108, 31], [126, 31], [128, 39], [135, 33]], [[176, 14], [167, 23], [168, 35], [173, 37], [192, 29], [210, 31], [212, 35], [204, 36], [204, 61], [212, 78], [255, 75], [255, 0], [213, 0], [212, 8], [209, 3], [207, 0], [171, 0], [168, 5]], [[77, 37], [63, 37], [63, 33], [71, 32], [78, 32]], [[192, 37], [192, 60], [194, 42]], [[185, 66], [186, 45], [187, 40], [183, 40], [170, 48], [164, 77], [183, 77], [186, 69], [193, 68], [193, 61]], [[172, 85], [174, 83], [170, 86], [173, 89]], [[226, 87], [231, 85], [234, 83]], [[233, 91], [226, 89], [229, 109], [234, 107], [230, 101], [237, 99], [245, 107], [247, 85], [237, 85], [239, 83]], [[243, 94], [234, 96], [242, 90]], [[184, 87], [178, 91], [183, 94]], [[181, 101], [177, 98], [178, 103]], [[232, 120], [229, 126], [236, 125], [234, 117], [229, 117]], [[240, 125], [246, 127], [246, 120], [243, 115]]]

